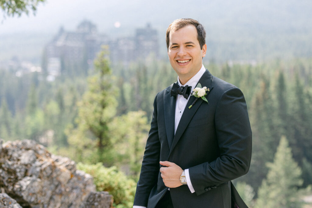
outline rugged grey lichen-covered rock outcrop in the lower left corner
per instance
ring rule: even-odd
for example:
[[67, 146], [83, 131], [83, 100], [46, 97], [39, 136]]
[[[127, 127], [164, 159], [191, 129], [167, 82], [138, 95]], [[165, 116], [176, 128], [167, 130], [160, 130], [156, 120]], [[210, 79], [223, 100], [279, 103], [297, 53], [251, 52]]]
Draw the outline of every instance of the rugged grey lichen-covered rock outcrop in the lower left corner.
[[112, 196], [96, 192], [93, 178], [74, 161], [31, 140], [0, 140], [0, 187], [22, 207], [112, 206]]

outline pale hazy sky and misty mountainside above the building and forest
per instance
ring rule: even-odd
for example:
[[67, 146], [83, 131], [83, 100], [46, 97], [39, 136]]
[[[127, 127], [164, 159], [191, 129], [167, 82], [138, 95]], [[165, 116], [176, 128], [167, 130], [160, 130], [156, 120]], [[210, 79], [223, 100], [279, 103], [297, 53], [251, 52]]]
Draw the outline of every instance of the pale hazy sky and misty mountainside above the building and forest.
[[[311, 51], [306, 43], [312, 39], [311, 11], [311, 0], [47, 0], [38, 6], [36, 16], [30, 12], [29, 16], [3, 19], [0, 10], [0, 61], [18, 55], [38, 62], [42, 48], [61, 26], [74, 31], [85, 19], [111, 39], [134, 36], [136, 28], [151, 23], [158, 31], [161, 51], [166, 53], [168, 25], [185, 17], [202, 23], [209, 48], [218, 57], [235, 59], [232, 54], [246, 51], [258, 54], [265, 51], [264, 46], [271, 53], [276, 49], [279, 56], [288, 48], [290, 54], [300, 56], [298, 49], [302, 54]], [[114, 27], [116, 22], [120, 22], [119, 28]]]

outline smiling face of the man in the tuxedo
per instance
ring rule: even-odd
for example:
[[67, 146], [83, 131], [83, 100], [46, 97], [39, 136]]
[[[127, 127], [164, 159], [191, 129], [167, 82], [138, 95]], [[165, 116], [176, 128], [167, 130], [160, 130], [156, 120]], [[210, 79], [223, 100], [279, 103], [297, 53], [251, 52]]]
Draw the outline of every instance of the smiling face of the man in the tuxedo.
[[187, 25], [178, 31], [170, 32], [168, 56], [182, 85], [201, 69], [202, 57], [206, 55], [206, 50], [206, 44], [200, 49], [195, 26]]

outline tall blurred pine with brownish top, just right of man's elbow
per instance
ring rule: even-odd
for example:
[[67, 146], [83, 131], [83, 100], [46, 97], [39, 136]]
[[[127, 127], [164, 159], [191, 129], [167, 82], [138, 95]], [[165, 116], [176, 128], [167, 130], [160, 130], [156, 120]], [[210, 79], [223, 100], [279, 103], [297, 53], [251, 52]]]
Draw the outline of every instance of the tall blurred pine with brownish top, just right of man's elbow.
[[270, 81], [262, 76], [259, 91], [255, 94], [250, 111], [250, 122], [252, 126], [252, 151], [251, 168], [246, 181], [257, 189], [261, 186], [261, 180], [266, 177], [266, 162], [273, 160], [274, 149], [278, 141], [272, 135], [273, 109], [270, 95]]

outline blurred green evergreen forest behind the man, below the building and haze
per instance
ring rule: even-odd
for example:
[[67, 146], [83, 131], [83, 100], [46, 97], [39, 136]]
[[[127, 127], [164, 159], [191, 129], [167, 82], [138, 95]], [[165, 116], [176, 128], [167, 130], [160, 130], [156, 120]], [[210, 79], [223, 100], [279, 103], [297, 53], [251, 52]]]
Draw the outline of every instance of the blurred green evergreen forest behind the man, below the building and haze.
[[[131, 207], [154, 96], [177, 80], [168, 60], [110, 65], [107, 51], [81, 73], [49, 82], [42, 73], [0, 70], [0, 138], [31, 139], [70, 157]], [[312, 184], [312, 59], [258, 63], [203, 60], [245, 95], [253, 150], [234, 184], [250, 207], [303, 207]]]

